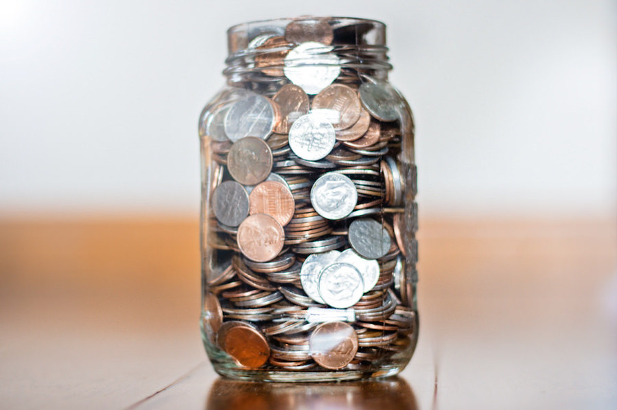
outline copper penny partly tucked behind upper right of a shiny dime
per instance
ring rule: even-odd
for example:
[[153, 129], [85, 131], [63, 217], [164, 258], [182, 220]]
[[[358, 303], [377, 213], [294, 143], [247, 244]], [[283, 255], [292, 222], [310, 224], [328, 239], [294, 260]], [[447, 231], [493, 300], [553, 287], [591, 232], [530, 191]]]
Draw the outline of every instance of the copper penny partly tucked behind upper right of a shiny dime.
[[333, 84], [315, 96], [312, 108], [313, 112], [323, 115], [336, 131], [349, 128], [358, 121], [362, 104], [352, 88]]

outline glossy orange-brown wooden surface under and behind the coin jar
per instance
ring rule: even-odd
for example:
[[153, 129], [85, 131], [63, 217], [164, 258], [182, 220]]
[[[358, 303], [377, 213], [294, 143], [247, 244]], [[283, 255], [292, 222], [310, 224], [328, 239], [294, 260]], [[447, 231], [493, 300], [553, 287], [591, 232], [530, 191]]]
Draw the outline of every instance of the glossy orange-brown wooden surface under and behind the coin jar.
[[0, 222], [2, 409], [615, 409], [615, 222], [422, 220], [420, 342], [400, 377], [217, 377], [198, 224]]

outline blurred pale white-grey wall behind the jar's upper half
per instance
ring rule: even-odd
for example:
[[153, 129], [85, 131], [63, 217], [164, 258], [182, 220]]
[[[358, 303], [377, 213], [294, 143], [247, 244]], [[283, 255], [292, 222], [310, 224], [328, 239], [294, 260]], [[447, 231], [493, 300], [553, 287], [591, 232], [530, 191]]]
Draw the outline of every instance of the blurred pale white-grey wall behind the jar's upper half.
[[421, 212], [614, 212], [616, 4], [0, 2], [0, 212], [189, 212], [225, 30], [294, 15], [388, 26], [416, 117]]

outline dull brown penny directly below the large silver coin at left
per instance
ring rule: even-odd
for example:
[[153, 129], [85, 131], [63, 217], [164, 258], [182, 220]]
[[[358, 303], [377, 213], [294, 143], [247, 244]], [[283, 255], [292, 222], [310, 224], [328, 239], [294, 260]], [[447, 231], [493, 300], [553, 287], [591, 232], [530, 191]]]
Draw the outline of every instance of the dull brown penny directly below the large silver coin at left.
[[270, 175], [272, 151], [260, 138], [246, 136], [234, 143], [227, 155], [227, 167], [234, 180], [255, 185]]

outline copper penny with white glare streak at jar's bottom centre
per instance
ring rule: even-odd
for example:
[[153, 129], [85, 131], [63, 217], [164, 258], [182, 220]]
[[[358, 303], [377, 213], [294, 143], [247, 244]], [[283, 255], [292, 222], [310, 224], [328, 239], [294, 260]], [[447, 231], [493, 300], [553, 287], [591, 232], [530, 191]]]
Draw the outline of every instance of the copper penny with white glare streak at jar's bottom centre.
[[322, 323], [311, 333], [309, 349], [311, 357], [321, 367], [342, 369], [358, 351], [358, 335], [345, 322]]

